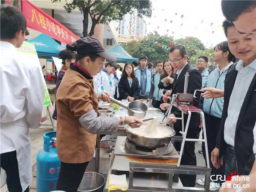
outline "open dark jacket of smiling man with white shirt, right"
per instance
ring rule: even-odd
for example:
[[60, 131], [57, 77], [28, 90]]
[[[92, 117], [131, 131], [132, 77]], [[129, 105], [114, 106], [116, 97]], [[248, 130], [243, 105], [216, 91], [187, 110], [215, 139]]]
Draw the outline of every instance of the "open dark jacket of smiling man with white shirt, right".
[[[233, 64], [228, 71], [225, 78], [224, 85], [224, 106], [221, 117], [221, 129], [216, 139], [216, 147], [219, 149], [220, 156], [222, 157], [226, 151], [227, 143], [224, 140], [224, 125], [227, 119], [227, 109], [230, 102], [230, 96], [236, 81], [238, 71], [236, 64]], [[235, 152], [238, 172], [240, 175], [249, 175], [255, 160], [253, 154], [253, 128], [256, 122], [256, 75], [250, 83], [247, 94], [244, 98], [239, 119], [236, 124], [235, 134]], [[237, 90], [239, 91], [239, 90]]]

